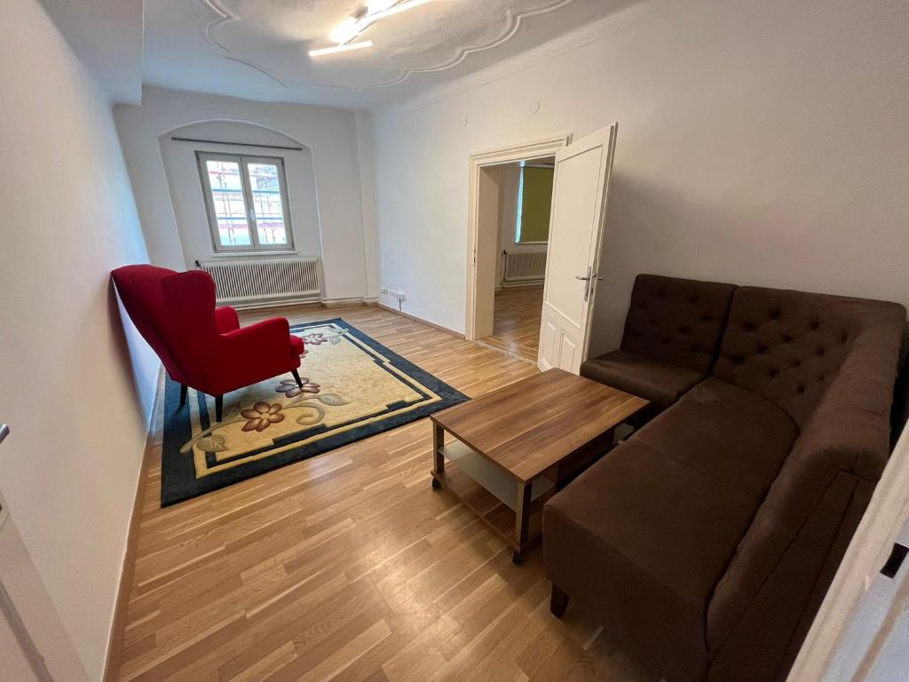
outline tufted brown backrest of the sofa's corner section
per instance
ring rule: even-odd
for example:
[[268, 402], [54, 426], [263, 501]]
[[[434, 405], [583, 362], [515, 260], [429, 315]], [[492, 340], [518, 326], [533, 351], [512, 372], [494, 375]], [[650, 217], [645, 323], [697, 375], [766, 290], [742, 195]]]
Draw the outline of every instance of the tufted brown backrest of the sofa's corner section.
[[[904, 320], [903, 306], [884, 301], [741, 286], [733, 295], [714, 376], [764, 396], [801, 427], [846, 357], [857, 351], [852, 371], [870, 370], [881, 358], [869, 356], [868, 346], [885, 338], [889, 354], [891, 335]], [[888, 367], [889, 362], [887, 356]], [[893, 384], [891, 377], [891, 397]]]

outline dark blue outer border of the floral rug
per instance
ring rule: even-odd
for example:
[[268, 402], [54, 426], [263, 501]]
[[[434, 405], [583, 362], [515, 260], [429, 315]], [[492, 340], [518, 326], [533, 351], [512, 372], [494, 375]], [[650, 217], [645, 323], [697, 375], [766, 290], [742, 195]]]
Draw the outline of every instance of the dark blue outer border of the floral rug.
[[[371, 347], [377, 353], [387, 357], [389, 362], [402, 370], [406, 375], [412, 376], [421, 384], [430, 388], [442, 400], [433, 405], [418, 407], [412, 412], [403, 415], [392, 416], [382, 421], [364, 426], [357, 426], [344, 434], [329, 436], [316, 443], [306, 446], [295, 447], [291, 450], [278, 453], [277, 455], [266, 457], [255, 462], [235, 466], [222, 472], [209, 474], [201, 479], [195, 477], [195, 464], [193, 457], [181, 455], [180, 447], [192, 436], [192, 427], [190, 426], [189, 406], [180, 407], [180, 385], [173, 381], [169, 376], [165, 383], [165, 426], [164, 426], [164, 446], [161, 453], [161, 506], [171, 506], [178, 502], [205, 495], [214, 490], [231, 486], [248, 478], [260, 476], [269, 471], [288, 466], [295, 462], [302, 462], [311, 457], [323, 455], [337, 447], [363, 440], [369, 436], [384, 433], [397, 426], [410, 424], [417, 419], [423, 419], [446, 407], [457, 405], [468, 400], [468, 396], [448, 386], [444, 381], [436, 376], [431, 375], [425, 369], [416, 366], [405, 357], [399, 356], [387, 346], [383, 346], [372, 336], [367, 336], [355, 326], [345, 322], [342, 317], [333, 317], [326, 320], [317, 320], [315, 322], [305, 322], [302, 324], [292, 325], [291, 332], [299, 330], [301, 327], [332, 325], [343, 326], [347, 333], [354, 336], [358, 341]], [[304, 359], [305, 371], [305, 359]], [[427, 454], [428, 462], [428, 454]]]

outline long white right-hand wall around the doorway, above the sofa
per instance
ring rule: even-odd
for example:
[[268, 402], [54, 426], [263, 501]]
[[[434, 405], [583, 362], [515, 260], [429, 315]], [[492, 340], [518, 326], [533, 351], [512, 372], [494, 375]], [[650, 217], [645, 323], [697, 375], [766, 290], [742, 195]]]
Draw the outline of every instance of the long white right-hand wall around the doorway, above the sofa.
[[598, 349], [644, 271], [909, 304], [907, 7], [645, 0], [377, 112], [382, 286], [463, 330], [468, 155], [618, 121]]

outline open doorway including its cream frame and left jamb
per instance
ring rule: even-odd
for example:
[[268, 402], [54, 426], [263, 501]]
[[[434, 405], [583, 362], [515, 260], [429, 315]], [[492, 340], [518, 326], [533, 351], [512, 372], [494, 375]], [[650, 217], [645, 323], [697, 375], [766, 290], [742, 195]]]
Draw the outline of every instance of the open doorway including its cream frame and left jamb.
[[466, 337], [536, 361], [553, 197], [567, 135], [471, 157]]

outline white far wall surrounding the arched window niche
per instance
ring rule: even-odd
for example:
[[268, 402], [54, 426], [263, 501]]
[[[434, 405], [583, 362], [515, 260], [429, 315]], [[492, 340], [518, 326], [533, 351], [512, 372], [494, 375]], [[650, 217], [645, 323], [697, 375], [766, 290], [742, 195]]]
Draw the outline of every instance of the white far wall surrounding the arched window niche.
[[[189, 253], [185, 248], [187, 243], [181, 240], [159, 137], [204, 121], [244, 122], [285, 135], [311, 150], [325, 297], [366, 296], [363, 211], [353, 112], [328, 106], [253, 102], [145, 87], [141, 106], [117, 106], [114, 116], [152, 263], [182, 270], [199, 257]], [[195, 191], [199, 185], [197, 174], [192, 184]], [[300, 188], [289, 186], [288, 189], [295, 195]], [[185, 229], [193, 227], [185, 226]], [[209, 239], [205, 222], [195, 228], [201, 232], [202, 242]]]

